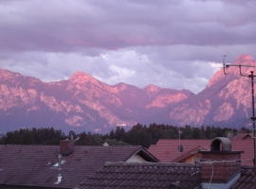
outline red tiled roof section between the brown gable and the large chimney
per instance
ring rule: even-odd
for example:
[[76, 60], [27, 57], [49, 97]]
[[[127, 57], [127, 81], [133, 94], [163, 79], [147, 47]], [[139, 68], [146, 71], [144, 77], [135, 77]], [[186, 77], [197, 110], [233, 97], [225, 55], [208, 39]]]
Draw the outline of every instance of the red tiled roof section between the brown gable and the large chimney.
[[[176, 158], [188, 153], [196, 146], [210, 150], [211, 140], [176, 140], [176, 139], [160, 139], [155, 145], [151, 145], [148, 149], [159, 161], [171, 163]], [[178, 145], [183, 146], [183, 152], [179, 152]]]

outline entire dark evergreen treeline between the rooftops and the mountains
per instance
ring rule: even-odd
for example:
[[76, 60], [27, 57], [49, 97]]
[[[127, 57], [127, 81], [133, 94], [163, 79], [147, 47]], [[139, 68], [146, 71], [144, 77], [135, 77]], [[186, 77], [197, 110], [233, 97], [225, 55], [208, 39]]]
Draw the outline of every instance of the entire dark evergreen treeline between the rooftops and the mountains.
[[[179, 130], [182, 134], [178, 134]], [[108, 143], [110, 146], [144, 146], [149, 147], [159, 139], [212, 139], [214, 137], [227, 136], [228, 133], [236, 135], [238, 132], [249, 132], [249, 129], [229, 129], [214, 126], [202, 126], [192, 128], [191, 126], [174, 127], [169, 125], [150, 124], [149, 127], [137, 124], [132, 129], [117, 127], [107, 134], [82, 132], [78, 134], [80, 139], [76, 145], [101, 146]], [[19, 129], [9, 131], [0, 139], [0, 144], [21, 144], [21, 145], [59, 145], [61, 140], [68, 138], [62, 130], [55, 129]]]

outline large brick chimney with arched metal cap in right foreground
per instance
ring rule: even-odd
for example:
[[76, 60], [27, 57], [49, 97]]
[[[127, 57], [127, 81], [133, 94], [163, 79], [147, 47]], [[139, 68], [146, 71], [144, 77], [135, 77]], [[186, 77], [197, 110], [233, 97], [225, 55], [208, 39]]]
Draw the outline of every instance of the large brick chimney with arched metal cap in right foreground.
[[229, 188], [241, 175], [241, 153], [231, 151], [231, 142], [226, 137], [211, 141], [210, 151], [200, 151], [201, 179], [203, 189]]

